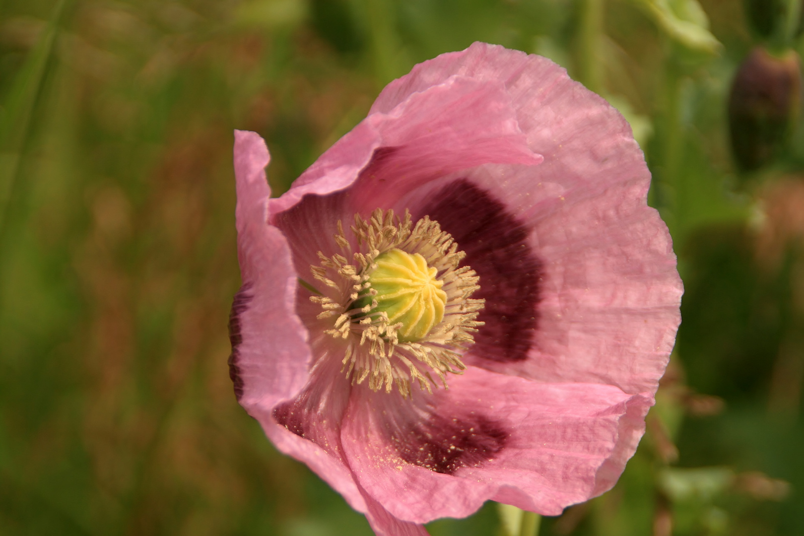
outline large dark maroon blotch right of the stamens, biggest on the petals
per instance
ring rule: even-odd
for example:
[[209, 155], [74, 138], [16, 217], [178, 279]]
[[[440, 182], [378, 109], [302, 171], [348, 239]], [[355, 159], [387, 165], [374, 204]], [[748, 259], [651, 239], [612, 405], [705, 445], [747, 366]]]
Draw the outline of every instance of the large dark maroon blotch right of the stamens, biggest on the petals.
[[459, 179], [433, 196], [421, 215], [429, 215], [453, 235], [464, 252], [464, 264], [480, 276], [473, 298], [486, 306], [478, 321], [471, 353], [496, 362], [527, 358], [539, 312], [541, 262], [527, 243], [529, 230], [486, 190]]

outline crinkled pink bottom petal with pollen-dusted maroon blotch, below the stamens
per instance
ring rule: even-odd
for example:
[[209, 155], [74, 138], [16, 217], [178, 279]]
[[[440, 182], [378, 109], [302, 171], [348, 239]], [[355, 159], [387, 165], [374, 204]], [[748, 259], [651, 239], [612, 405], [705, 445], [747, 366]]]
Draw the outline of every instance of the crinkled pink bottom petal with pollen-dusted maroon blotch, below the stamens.
[[[417, 402], [412, 410], [409, 401], [353, 391], [342, 436], [360, 485], [397, 518], [425, 523], [466, 517], [488, 499], [557, 515], [609, 489], [644, 432], [653, 397], [470, 367], [449, 391]], [[416, 459], [449, 442], [463, 449], [441, 467], [449, 474], [423, 466], [437, 466], [432, 457]]]

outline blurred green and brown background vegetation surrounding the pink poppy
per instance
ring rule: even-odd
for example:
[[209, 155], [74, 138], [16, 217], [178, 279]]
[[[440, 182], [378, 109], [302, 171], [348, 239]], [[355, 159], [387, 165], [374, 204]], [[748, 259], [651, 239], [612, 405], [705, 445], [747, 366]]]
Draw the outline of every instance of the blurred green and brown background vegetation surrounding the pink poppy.
[[[804, 534], [800, 27], [799, 0], [0, 0], [0, 535], [371, 534], [232, 394], [232, 129], [279, 194], [475, 40], [621, 110], [686, 285], [637, 455], [541, 534]], [[493, 504], [429, 530], [502, 534]]]

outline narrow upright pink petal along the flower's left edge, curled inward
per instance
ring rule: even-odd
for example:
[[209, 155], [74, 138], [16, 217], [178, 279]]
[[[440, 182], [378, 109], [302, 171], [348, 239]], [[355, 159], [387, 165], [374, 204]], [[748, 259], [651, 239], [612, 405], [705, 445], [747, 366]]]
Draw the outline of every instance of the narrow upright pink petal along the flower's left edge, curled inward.
[[287, 239], [267, 223], [269, 160], [262, 138], [236, 131], [236, 227], [243, 287], [232, 306], [230, 374], [240, 404], [273, 444], [304, 461], [364, 512], [365, 501], [345, 464], [273, 419], [277, 403], [296, 397], [310, 378], [310, 346], [307, 329], [295, 313], [297, 275]]

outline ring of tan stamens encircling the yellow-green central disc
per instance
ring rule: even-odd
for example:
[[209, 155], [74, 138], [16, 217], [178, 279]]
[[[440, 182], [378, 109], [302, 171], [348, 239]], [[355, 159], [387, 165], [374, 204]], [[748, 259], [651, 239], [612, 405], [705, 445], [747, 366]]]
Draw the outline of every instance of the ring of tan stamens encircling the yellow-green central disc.
[[[347, 256], [318, 252], [320, 265], [310, 267], [313, 276], [329, 288], [328, 295], [310, 297], [322, 306], [318, 318], [334, 317], [326, 333], [347, 341], [342, 372], [352, 383], [367, 380], [373, 391], [384, 387], [390, 393], [396, 384], [404, 397], [410, 396], [414, 381], [432, 392], [431, 385], [437, 383], [431, 372], [446, 388], [446, 375], [461, 374], [466, 368], [461, 354], [482, 325], [477, 317], [484, 300], [470, 297], [480, 288], [479, 278], [470, 267], [459, 267], [466, 253], [458, 251], [452, 236], [428, 216], [414, 226], [408, 211], [401, 220], [391, 210], [377, 209], [369, 219], [356, 214], [351, 232], [354, 239], [350, 241], [338, 221], [334, 240], [343, 253], [351, 253], [351, 264]], [[371, 286], [375, 260], [393, 249], [422, 256], [427, 267], [436, 269], [446, 293], [441, 321], [416, 340], [400, 340], [404, 325], [392, 324], [388, 313], [378, 309], [377, 290]]]

